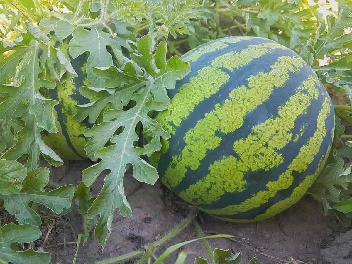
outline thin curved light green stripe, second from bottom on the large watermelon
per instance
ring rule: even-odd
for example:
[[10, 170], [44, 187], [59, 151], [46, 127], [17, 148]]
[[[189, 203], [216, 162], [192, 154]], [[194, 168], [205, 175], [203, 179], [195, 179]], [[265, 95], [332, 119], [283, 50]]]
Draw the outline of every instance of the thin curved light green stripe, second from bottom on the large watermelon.
[[325, 120], [330, 114], [330, 101], [329, 97], [326, 96], [322, 105], [322, 109], [318, 114], [317, 118], [317, 130], [314, 135], [308, 140], [307, 144], [302, 146], [300, 152], [292, 163], [288, 166], [287, 170], [282, 173], [277, 181], [270, 181], [266, 185], [268, 190], [259, 191], [251, 198], [238, 205], [230, 205], [224, 208], [209, 210], [202, 209], [204, 212], [209, 214], [223, 214], [223, 215], [234, 215], [241, 212], [247, 212], [252, 208], [256, 208], [266, 202], [275, 194], [280, 191], [287, 189], [293, 183], [292, 173], [296, 171], [297, 173], [302, 173], [307, 169], [307, 166], [313, 161], [315, 155], [318, 153], [321, 143], [326, 136], [326, 126]]

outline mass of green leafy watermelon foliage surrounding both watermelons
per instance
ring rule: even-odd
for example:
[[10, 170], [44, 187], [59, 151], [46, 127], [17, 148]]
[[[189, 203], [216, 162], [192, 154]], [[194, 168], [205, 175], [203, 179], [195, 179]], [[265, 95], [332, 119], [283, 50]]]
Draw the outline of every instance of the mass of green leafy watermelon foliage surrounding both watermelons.
[[[170, 138], [152, 113], [168, 108], [167, 91], [191, 70], [180, 56], [232, 35], [287, 46], [329, 92], [346, 96], [334, 107], [328, 163], [308, 193], [326, 214], [351, 225], [352, 136], [345, 133], [345, 125], [352, 124], [351, 7], [351, 0], [324, 5], [308, 0], [0, 0], [0, 200], [19, 223], [11, 228], [28, 233], [26, 239], [11, 233], [11, 241], [38, 238], [38, 204], [65, 214], [78, 199], [84, 218], [92, 221], [99, 215], [95, 237], [104, 247], [115, 211], [125, 217], [133, 212], [123, 186], [126, 166], [132, 165], [140, 182], [158, 179], [144, 157]], [[96, 164], [83, 170], [76, 190], [69, 184], [44, 191], [50, 173], [40, 165], [41, 157], [51, 166], [64, 163], [43, 139], [61, 133], [55, 115], [60, 102], [51, 95], [78, 77], [72, 60], [81, 57], [86, 79], [78, 88], [85, 103], [75, 105], [71, 114], [89, 123], [84, 151]], [[110, 173], [93, 197], [89, 187], [104, 170]], [[22, 201], [21, 210], [15, 208], [16, 199]], [[8, 228], [0, 227], [0, 235], [10, 233]], [[13, 263], [28, 256], [43, 263], [50, 259], [47, 253], [4, 248], [0, 259]]]

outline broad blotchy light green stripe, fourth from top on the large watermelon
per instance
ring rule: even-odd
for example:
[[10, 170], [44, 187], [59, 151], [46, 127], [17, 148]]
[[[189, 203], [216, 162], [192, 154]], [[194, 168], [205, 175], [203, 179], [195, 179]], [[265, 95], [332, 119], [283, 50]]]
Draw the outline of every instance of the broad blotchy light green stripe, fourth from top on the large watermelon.
[[317, 84], [319, 80], [315, 76], [303, 81], [296, 88], [297, 93], [283, 106], [279, 106], [277, 117], [268, 118], [264, 123], [254, 126], [247, 138], [234, 142], [234, 151], [239, 155], [239, 160], [232, 156], [225, 157], [223, 160], [231, 162], [226, 166], [217, 166], [217, 170], [212, 168], [218, 162], [211, 164], [207, 176], [179, 195], [193, 204], [210, 204], [218, 201], [225, 193], [244, 190], [244, 172], [270, 170], [281, 164], [283, 157], [277, 151], [290, 142], [293, 138], [291, 130], [295, 126], [295, 120], [307, 111], [312, 100], [318, 98]]

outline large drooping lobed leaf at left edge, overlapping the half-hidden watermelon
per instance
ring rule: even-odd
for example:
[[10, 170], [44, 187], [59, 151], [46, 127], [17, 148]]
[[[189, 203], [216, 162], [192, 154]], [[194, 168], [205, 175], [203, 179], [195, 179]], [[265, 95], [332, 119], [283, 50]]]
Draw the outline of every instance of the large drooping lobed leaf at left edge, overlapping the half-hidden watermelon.
[[[14, 51], [0, 62], [0, 91], [8, 95], [0, 101], [0, 138], [8, 149], [1, 158], [17, 160], [28, 155], [25, 166], [32, 170], [39, 166], [40, 153], [51, 165], [63, 163], [41, 138], [43, 130], [58, 132], [54, 116], [58, 102], [46, 98], [41, 89], [54, 89], [54, 81], [64, 82], [77, 74], [60, 51], [44, 43], [49, 38], [43, 31], [31, 23], [27, 27], [28, 32], [15, 42], [0, 42], [1, 52]], [[24, 124], [13, 135], [11, 128], [19, 125], [17, 117]]]

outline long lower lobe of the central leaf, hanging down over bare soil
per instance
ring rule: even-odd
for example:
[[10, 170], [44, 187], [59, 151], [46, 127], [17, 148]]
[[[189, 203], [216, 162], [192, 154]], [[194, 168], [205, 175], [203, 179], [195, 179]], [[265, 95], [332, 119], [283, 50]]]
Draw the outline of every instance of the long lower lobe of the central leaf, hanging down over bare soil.
[[[111, 170], [111, 173], [105, 177], [105, 183], [100, 194], [88, 210], [90, 218], [100, 214], [100, 219], [95, 228], [95, 235], [102, 245], [105, 244], [108, 237], [107, 224], [109, 217], [116, 208], [119, 209], [123, 216], [129, 217], [132, 214], [123, 185], [126, 165], [128, 163], [133, 165], [133, 176], [141, 182], [154, 184], [158, 179], [156, 169], [140, 157], [147, 154], [148, 150], [144, 147], [135, 147], [133, 143], [138, 140], [138, 135], [135, 132], [137, 124], [142, 122], [144, 127], [154, 125], [153, 123], [156, 122], [148, 117], [147, 114], [153, 110], [162, 111], [166, 109], [166, 106], [164, 103], [155, 102], [151, 98], [150, 86], [143, 89], [143, 93], [136, 93], [131, 97], [132, 100], [137, 102], [135, 107], [128, 111], [119, 109], [108, 110], [104, 113], [101, 124], [94, 125], [84, 132], [86, 137], [90, 137], [86, 145], [87, 148], [95, 145], [99, 146], [96, 147], [98, 149], [102, 148], [105, 144], [105, 138], [111, 138], [110, 141], [114, 143], [112, 146], [104, 147], [95, 152], [95, 157], [102, 159], [102, 161], [83, 170], [82, 176], [83, 182], [90, 186], [103, 170]], [[117, 136], [113, 136], [115, 131], [122, 126], [124, 131]], [[102, 134], [104, 134], [104, 137], [101, 137]], [[159, 140], [160, 136], [164, 139], [170, 137], [161, 125], [155, 136], [159, 137]]]

